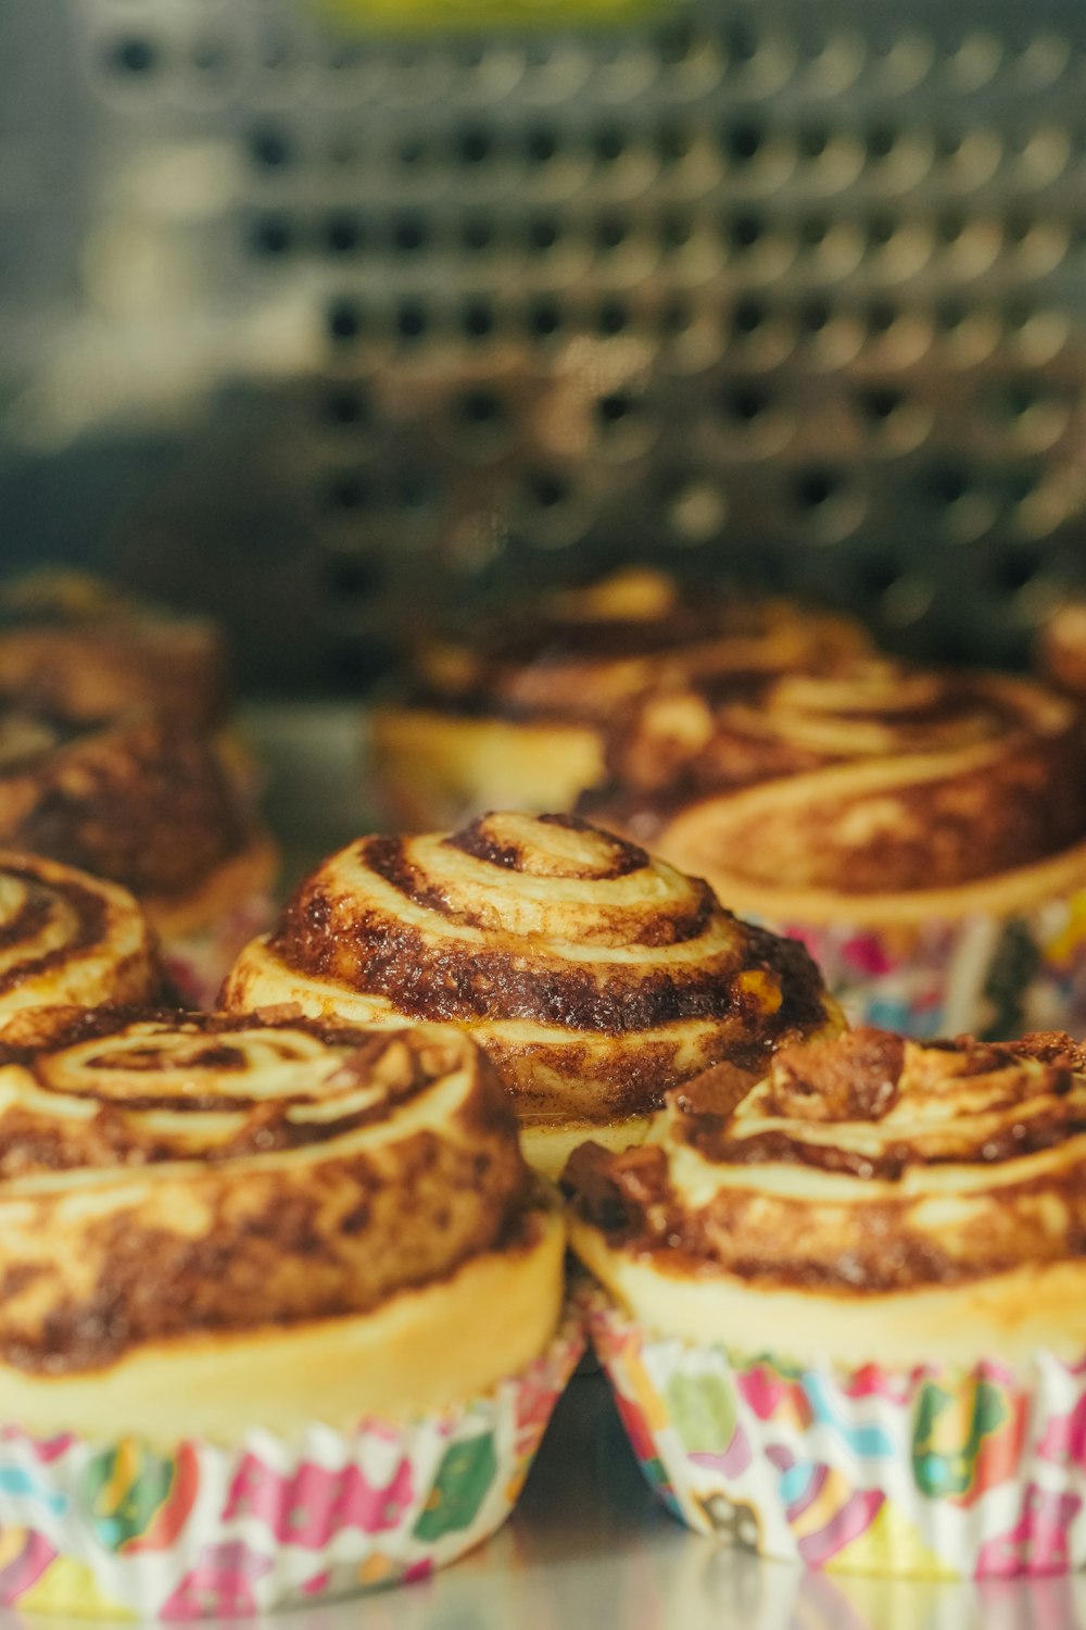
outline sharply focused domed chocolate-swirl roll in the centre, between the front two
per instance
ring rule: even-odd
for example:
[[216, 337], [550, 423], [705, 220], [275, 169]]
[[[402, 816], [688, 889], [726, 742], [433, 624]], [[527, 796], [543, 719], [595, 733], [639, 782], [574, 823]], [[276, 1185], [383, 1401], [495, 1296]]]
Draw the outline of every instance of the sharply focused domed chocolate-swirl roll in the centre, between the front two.
[[775, 1048], [840, 1024], [801, 945], [568, 815], [485, 815], [332, 856], [221, 994], [233, 1011], [277, 1001], [352, 1024], [462, 1025], [547, 1172], [588, 1134], [637, 1141], [663, 1092], [705, 1064], [757, 1074]]

